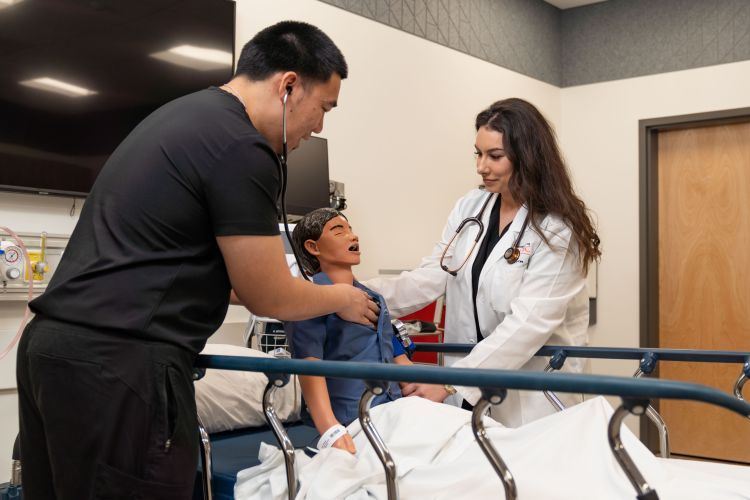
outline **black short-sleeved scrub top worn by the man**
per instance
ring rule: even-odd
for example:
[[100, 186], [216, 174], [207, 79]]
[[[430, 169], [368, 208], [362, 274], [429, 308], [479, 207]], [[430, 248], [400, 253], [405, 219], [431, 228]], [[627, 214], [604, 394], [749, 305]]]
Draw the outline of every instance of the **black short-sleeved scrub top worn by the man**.
[[229, 305], [216, 237], [279, 233], [278, 168], [231, 94], [162, 106], [107, 160], [31, 310], [199, 352]]

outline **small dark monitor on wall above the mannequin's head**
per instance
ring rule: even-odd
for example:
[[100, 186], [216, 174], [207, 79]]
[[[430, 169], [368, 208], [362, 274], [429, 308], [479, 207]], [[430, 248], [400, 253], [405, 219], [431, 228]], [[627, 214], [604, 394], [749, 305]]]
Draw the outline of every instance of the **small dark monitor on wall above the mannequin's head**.
[[305, 215], [329, 205], [328, 141], [310, 137], [289, 153], [287, 215]]

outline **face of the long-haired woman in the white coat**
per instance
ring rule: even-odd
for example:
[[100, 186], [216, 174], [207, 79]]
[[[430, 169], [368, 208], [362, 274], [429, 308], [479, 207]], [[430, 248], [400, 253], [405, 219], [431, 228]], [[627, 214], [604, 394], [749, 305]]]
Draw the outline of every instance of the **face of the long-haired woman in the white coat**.
[[487, 192], [508, 196], [508, 182], [513, 175], [513, 164], [503, 149], [503, 134], [481, 127], [477, 131], [474, 155], [477, 159], [477, 173], [482, 176]]

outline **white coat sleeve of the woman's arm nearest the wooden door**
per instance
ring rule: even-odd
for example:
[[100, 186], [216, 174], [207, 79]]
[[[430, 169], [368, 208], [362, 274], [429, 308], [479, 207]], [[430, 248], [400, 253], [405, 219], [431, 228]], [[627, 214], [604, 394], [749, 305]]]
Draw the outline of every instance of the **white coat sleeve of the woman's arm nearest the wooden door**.
[[[551, 222], [545, 234], [549, 245], [541, 241], [530, 257], [518, 295], [510, 301], [510, 313], [468, 356], [453, 366], [519, 369], [563, 323], [568, 304], [585, 286], [585, 278], [571, 230], [559, 221]], [[495, 286], [502, 284], [495, 283]], [[479, 399], [476, 388], [459, 390], [471, 404]]]

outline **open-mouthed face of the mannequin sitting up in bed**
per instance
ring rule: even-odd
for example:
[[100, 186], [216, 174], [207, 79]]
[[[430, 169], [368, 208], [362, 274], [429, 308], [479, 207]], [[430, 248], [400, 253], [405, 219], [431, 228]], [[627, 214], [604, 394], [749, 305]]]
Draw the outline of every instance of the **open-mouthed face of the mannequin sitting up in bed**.
[[305, 248], [320, 262], [322, 271], [331, 268], [351, 268], [360, 261], [359, 237], [342, 216], [336, 216], [323, 226], [320, 238], [305, 241]]

